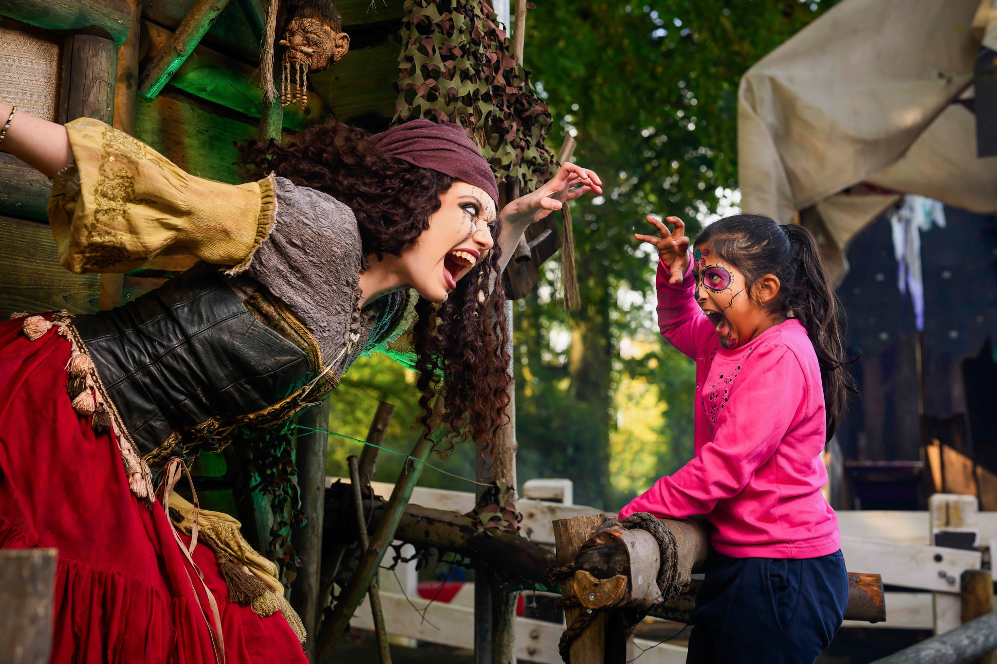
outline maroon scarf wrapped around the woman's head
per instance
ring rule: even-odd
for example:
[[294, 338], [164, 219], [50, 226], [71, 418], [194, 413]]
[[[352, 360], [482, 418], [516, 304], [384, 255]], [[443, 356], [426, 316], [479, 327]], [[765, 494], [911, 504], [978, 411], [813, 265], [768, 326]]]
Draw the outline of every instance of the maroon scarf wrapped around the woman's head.
[[484, 189], [498, 206], [495, 173], [460, 124], [414, 119], [375, 133], [371, 140], [389, 156]]

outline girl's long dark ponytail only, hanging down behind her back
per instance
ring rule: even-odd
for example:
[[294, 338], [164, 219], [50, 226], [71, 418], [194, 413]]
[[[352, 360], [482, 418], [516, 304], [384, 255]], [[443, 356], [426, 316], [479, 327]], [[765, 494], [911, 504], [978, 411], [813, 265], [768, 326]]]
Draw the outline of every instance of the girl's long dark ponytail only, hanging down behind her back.
[[831, 440], [844, 415], [847, 392], [854, 391], [854, 381], [843, 367], [844, 340], [838, 324], [837, 296], [810, 231], [797, 224], [782, 226], [782, 230], [790, 240], [796, 276], [784, 303], [788, 313], [803, 324], [817, 351]]

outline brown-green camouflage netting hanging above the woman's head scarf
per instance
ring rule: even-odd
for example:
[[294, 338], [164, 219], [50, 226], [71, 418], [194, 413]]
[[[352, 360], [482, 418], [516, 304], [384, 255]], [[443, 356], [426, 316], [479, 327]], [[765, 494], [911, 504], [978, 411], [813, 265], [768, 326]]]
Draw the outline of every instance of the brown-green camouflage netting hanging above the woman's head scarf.
[[498, 178], [532, 191], [550, 177], [552, 119], [512, 58], [486, 2], [407, 0], [394, 123], [415, 117], [475, 127]]

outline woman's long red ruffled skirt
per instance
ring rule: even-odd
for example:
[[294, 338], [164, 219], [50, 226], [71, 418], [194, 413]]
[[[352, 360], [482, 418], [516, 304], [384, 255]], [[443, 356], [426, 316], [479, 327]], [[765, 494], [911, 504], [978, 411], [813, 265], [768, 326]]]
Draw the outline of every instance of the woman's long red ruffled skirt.
[[[0, 549], [59, 550], [51, 661], [213, 662], [203, 587], [162, 506], [131, 494], [113, 434], [94, 433], [70, 404], [69, 341], [56, 330], [31, 341], [21, 327], [0, 324]], [[230, 603], [207, 547], [193, 559], [227, 664], [307, 663], [283, 616]]]

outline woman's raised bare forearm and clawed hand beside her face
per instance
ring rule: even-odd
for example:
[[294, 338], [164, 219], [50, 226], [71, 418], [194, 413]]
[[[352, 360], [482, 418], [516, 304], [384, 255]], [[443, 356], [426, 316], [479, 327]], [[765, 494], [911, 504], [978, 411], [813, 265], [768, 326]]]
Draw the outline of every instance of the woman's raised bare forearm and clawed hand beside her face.
[[527, 226], [543, 219], [553, 210], [561, 209], [564, 202], [574, 200], [587, 191], [602, 193], [599, 176], [594, 171], [565, 163], [536, 191], [520, 196], [503, 207], [498, 213], [502, 221], [501, 234], [498, 236], [498, 246], [501, 248], [498, 269], [505, 269]]

